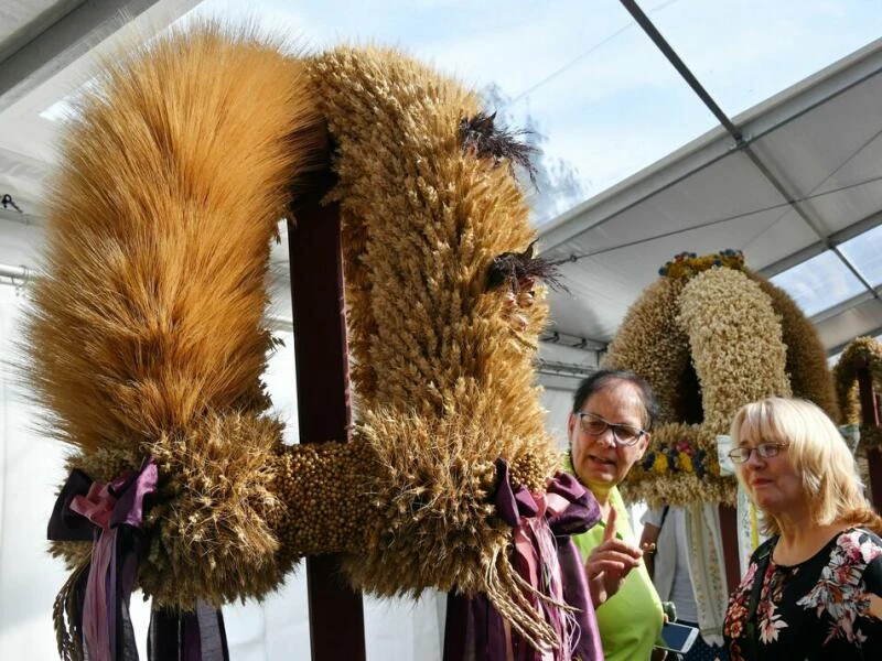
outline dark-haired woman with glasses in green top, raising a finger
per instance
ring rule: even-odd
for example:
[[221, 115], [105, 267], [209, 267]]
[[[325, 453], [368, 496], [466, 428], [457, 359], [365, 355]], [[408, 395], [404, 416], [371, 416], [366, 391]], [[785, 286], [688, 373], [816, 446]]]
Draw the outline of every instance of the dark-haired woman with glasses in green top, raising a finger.
[[582, 553], [606, 661], [647, 661], [662, 631], [658, 595], [617, 486], [646, 452], [657, 404], [633, 372], [601, 370], [579, 386], [567, 424], [572, 470], [601, 522], [573, 537]]

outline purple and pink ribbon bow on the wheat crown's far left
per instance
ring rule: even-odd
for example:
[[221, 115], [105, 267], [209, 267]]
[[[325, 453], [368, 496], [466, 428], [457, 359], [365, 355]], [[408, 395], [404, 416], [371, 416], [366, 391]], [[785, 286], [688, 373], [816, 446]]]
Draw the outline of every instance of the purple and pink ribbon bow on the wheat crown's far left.
[[144, 499], [157, 490], [157, 480], [152, 457], [109, 484], [74, 470], [55, 501], [49, 539], [94, 544], [90, 565], [73, 587], [72, 622], [90, 661], [138, 659], [129, 602], [142, 550]]

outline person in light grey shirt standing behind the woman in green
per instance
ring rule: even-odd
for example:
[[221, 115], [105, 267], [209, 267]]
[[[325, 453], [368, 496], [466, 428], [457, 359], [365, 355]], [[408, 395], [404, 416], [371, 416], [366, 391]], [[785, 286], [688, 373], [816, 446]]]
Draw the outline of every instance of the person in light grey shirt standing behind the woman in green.
[[[686, 510], [676, 506], [648, 509], [641, 522], [643, 561], [659, 598], [674, 604], [679, 624], [700, 629], [689, 563]], [[685, 661], [729, 659], [725, 648], [709, 644], [700, 632], [689, 651], [681, 657]]]

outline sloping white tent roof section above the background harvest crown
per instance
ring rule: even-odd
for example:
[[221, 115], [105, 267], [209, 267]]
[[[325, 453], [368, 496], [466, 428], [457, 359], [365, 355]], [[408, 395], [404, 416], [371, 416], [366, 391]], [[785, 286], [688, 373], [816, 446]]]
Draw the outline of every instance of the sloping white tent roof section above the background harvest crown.
[[544, 254], [572, 260], [553, 329], [605, 344], [676, 253], [732, 248], [830, 353], [882, 333], [881, 72], [882, 40], [734, 118], [740, 144], [721, 126], [542, 227]]

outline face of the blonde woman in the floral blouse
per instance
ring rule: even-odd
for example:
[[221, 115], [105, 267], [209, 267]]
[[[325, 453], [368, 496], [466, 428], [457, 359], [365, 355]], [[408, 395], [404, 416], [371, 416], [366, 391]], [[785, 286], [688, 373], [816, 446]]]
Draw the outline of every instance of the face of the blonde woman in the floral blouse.
[[[744, 437], [742, 447], [755, 448], [763, 443], [786, 443], [777, 438]], [[778, 517], [798, 516], [807, 508], [803, 479], [790, 462], [788, 447], [778, 448], [772, 457], [761, 457], [754, 449], [739, 467], [741, 480], [751, 500], [765, 512]]]

